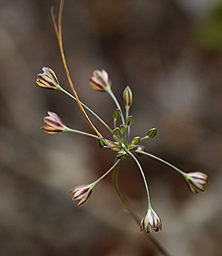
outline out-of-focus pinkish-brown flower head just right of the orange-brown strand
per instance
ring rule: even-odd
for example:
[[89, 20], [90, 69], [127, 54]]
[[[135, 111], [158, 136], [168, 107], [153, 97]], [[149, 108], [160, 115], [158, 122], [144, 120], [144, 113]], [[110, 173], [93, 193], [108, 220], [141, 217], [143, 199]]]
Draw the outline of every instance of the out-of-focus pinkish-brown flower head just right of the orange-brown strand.
[[94, 90], [107, 91], [111, 87], [111, 82], [105, 70], [95, 70], [93, 77], [89, 78], [89, 85]]

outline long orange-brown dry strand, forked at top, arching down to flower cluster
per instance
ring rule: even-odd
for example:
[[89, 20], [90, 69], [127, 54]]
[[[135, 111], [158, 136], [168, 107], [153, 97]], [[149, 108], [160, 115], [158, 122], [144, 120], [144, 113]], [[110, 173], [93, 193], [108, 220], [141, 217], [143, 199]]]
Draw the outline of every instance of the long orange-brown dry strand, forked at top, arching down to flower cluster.
[[73, 94], [74, 94], [75, 98], [77, 98], [77, 104], [78, 104], [78, 106], [81, 110], [81, 113], [84, 115], [86, 121], [89, 123], [89, 126], [93, 129], [93, 131], [97, 134], [97, 136], [98, 137], [103, 137], [100, 134], [100, 132], [97, 130], [97, 128], [95, 126], [93, 126], [93, 123], [89, 119], [88, 115], [85, 113], [84, 108], [81, 106], [81, 102], [80, 102], [80, 100], [77, 96], [77, 92], [76, 92], [76, 90], [73, 86], [73, 81], [72, 81], [72, 78], [70, 76], [69, 68], [68, 68], [66, 60], [65, 60], [65, 53], [64, 53], [64, 49], [63, 49], [62, 35], [61, 35], [61, 19], [62, 19], [63, 6], [64, 6], [64, 0], [61, 0], [60, 7], [59, 7], [59, 14], [58, 14], [58, 22], [57, 23], [55, 21], [54, 10], [53, 9], [51, 9], [51, 14], [52, 14], [53, 22], [54, 22], [55, 32], [56, 32], [56, 35], [57, 35], [57, 42], [58, 42], [59, 50], [60, 50], [60, 53], [61, 53], [61, 59], [62, 59], [62, 62], [63, 62], [63, 66], [65, 68], [65, 74], [68, 78], [69, 86], [73, 90]]

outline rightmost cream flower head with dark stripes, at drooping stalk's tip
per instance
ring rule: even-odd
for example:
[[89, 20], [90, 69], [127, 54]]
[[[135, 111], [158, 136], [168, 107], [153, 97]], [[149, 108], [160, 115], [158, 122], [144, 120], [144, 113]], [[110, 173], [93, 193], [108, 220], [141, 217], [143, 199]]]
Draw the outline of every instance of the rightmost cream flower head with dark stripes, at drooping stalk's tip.
[[201, 172], [188, 173], [185, 179], [194, 194], [204, 192], [204, 185], [208, 184], [208, 175]]

